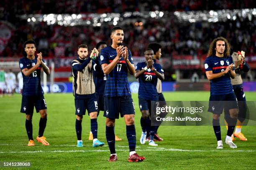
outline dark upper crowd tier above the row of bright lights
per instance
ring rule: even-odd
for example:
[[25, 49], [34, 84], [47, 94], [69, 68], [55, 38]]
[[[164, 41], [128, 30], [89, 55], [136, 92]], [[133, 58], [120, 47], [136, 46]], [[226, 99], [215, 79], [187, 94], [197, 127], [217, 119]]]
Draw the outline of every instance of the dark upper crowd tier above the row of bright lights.
[[253, 0], [2, 0], [0, 13], [10, 18], [14, 14], [49, 13], [123, 13], [125, 11], [222, 10], [255, 7]]

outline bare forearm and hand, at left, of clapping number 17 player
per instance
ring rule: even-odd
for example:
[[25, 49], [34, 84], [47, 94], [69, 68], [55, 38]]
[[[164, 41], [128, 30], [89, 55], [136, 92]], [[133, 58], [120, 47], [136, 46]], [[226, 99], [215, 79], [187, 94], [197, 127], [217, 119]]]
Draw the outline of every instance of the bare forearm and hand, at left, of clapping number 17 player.
[[117, 55], [114, 58], [114, 60], [112, 62], [110, 62], [109, 64], [104, 63], [104, 64], [101, 65], [104, 74], [108, 75], [115, 68], [115, 65], [117, 65], [118, 61], [120, 60], [120, 58], [123, 54], [123, 50], [124, 50], [123, 45], [118, 46], [116, 48]]

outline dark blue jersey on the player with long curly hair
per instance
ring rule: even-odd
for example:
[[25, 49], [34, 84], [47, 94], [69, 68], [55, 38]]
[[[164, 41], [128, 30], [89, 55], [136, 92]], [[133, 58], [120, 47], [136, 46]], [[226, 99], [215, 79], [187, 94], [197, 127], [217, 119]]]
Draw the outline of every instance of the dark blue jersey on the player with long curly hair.
[[[217, 57], [210, 56], [205, 60], [205, 71], [212, 71], [213, 74], [225, 71], [228, 65], [233, 63], [231, 56]], [[221, 77], [210, 80], [211, 95], [225, 95], [233, 92], [230, 75], [225, 74]]]

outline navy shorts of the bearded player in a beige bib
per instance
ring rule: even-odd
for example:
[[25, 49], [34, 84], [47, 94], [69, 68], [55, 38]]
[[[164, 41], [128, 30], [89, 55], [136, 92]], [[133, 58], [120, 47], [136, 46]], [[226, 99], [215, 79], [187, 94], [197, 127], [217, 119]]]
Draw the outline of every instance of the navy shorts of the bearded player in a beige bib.
[[85, 115], [87, 110], [88, 115], [91, 112], [98, 112], [98, 103], [96, 96], [87, 99], [75, 99], [76, 115]]

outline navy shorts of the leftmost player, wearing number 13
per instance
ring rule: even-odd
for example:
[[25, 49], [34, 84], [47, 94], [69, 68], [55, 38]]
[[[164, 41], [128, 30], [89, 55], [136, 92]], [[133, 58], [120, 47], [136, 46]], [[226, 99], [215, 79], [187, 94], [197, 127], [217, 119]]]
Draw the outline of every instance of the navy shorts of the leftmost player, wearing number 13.
[[22, 96], [20, 112], [26, 113], [27, 115], [33, 115], [34, 106], [36, 107], [37, 113], [39, 110], [47, 109], [44, 95]]

